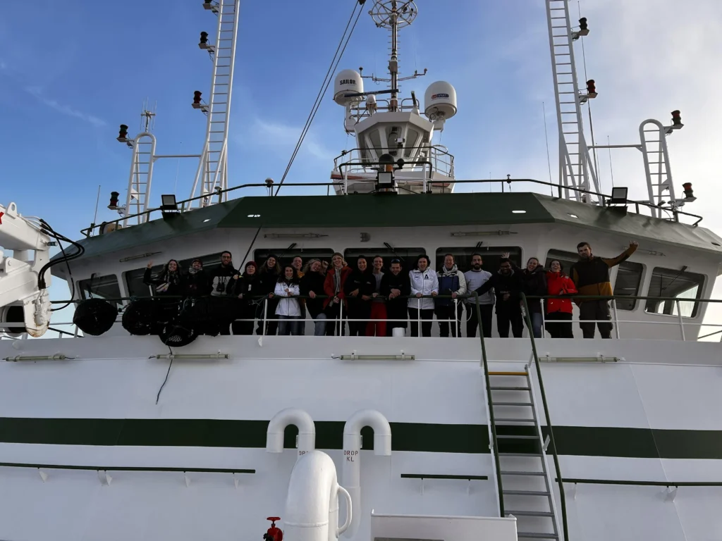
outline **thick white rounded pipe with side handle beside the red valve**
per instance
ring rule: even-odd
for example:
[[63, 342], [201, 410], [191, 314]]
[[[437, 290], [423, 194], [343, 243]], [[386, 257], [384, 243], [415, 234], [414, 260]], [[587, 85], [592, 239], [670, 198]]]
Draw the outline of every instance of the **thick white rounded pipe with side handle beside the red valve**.
[[[346, 522], [339, 527], [339, 492], [346, 496]], [[284, 519], [287, 539], [336, 541], [351, 522], [349, 493], [336, 480], [336, 465], [328, 454], [310, 451], [291, 472]]]

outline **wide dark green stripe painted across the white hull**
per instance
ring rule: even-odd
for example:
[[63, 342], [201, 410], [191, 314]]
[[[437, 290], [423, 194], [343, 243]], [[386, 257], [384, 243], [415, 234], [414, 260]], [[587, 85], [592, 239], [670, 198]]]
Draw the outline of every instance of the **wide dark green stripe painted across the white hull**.
[[[0, 442], [132, 447], [266, 446], [269, 421], [214, 419], [0, 418]], [[316, 421], [316, 447], [342, 449], [343, 421]], [[534, 434], [531, 426], [499, 426], [499, 434]], [[544, 434], [546, 429], [544, 428]], [[391, 423], [394, 451], [479, 454], [489, 452], [486, 425]], [[284, 438], [295, 447], [295, 427]], [[364, 449], [373, 432], [364, 428]], [[722, 431], [556, 426], [559, 454], [588, 457], [722, 459]], [[534, 452], [536, 441], [500, 440], [501, 452]]]

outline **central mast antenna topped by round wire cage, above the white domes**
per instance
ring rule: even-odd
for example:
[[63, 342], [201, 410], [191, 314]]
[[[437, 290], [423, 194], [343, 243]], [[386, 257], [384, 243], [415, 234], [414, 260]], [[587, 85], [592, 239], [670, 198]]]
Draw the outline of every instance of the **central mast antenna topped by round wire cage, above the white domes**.
[[370, 79], [373, 80], [373, 82], [391, 83], [391, 101], [388, 110], [396, 111], [399, 106], [399, 81], [416, 79], [417, 77], [426, 75], [427, 72], [427, 69], [424, 69], [424, 73], [419, 74], [417, 70], [414, 70], [412, 76], [399, 79], [399, 30], [414, 22], [414, 19], [416, 19], [419, 14], [419, 9], [412, 0], [375, 0], [368, 14], [373, 19], [373, 22], [375, 22], [376, 27], [386, 28], [391, 32], [391, 58], [388, 60], [388, 74], [390, 78], [383, 79], [372, 74]]

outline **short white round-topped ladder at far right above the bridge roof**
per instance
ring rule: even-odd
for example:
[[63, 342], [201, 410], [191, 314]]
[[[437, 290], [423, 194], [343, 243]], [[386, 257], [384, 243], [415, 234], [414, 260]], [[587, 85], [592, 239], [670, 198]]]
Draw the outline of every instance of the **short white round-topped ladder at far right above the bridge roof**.
[[[669, 128], [662, 126], [658, 120], [645, 120], [639, 126], [640, 141], [644, 170], [647, 176], [649, 203], [656, 207], [664, 203], [674, 205], [674, 183], [669, 168], [669, 152], [667, 151], [667, 132]], [[653, 208], [652, 215], [661, 218], [661, 208]]]

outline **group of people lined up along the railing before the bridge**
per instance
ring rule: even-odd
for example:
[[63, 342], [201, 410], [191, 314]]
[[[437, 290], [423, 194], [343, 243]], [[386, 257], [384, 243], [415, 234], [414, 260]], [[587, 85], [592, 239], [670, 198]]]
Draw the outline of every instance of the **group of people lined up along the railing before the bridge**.
[[[386, 269], [378, 255], [370, 260], [370, 268], [363, 255], [352, 267], [339, 252], [330, 264], [313, 258], [304, 265], [296, 256], [280, 265], [276, 255], [269, 255], [260, 267], [248, 261], [240, 271], [226, 251], [221, 264], [208, 273], [199, 259], [193, 260], [187, 272], [181, 271], [177, 260], [170, 260], [160, 274], [152, 276], [150, 262], [144, 283], [155, 286], [160, 296], [238, 299], [237, 320], [221, 334], [252, 335], [257, 320], [258, 335], [302, 335], [308, 314], [316, 336], [344, 335], [345, 323], [351, 336], [404, 335], [409, 324], [412, 336], [430, 336], [436, 316], [441, 337], [450, 333], [461, 337], [464, 319], [466, 336], [475, 337], [480, 319], [484, 337], [490, 338], [496, 307], [499, 336], [508, 338], [511, 328], [513, 336], [520, 338], [524, 327], [521, 294], [525, 294], [531, 297], [526, 306], [534, 337], [542, 337], [545, 322], [552, 338], [573, 338], [575, 302], [584, 338], [594, 337], [595, 322], [601, 337], [611, 338], [609, 303], [584, 297], [611, 296], [609, 269], [629, 258], [637, 247], [637, 242], [630, 242], [625, 252], [606, 259], [592, 255], [588, 242], [580, 242], [579, 260], [568, 276], [560, 260], [550, 261], [544, 269], [538, 258], [529, 258], [522, 269], [508, 253], [502, 255], [496, 273], [482, 268], [479, 253], [471, 256], [466, 272], [458, 269], [453, 254], [444, 256], [439, 271], [431, 268], [427, 255], [419, 255], [414, 268], [404, 271], [400, 259], [391, 260]], [[542, 303], [541, 297], [548, 298]]]

